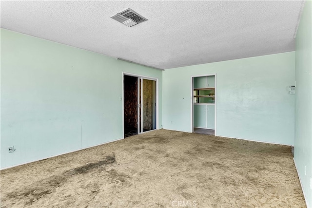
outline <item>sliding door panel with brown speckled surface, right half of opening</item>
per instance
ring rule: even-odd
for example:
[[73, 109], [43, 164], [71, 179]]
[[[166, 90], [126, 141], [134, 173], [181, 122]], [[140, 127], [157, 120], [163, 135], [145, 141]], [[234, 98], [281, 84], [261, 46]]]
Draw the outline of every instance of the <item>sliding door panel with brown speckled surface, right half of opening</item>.
[[156, 81], [142, 79], [141, 131], [156, 129]]

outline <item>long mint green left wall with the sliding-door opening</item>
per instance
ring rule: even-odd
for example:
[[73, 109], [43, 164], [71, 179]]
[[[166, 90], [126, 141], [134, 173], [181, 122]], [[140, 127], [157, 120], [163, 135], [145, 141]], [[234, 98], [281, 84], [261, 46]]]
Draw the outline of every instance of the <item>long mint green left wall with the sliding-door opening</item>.
[[1, 29], [0, 167], [122, 138], [122, 71], [159, 78], [161, 128], [162, 71]]

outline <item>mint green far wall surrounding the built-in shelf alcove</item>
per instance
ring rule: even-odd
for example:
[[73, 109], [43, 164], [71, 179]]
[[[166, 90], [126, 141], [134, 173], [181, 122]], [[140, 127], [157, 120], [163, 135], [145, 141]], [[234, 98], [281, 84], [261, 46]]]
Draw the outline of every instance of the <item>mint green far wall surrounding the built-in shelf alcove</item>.
[[[216, 73], [216, 135], [294, 144], [294, 52], [163, 72], [163, 127], [191, 132], [191, 76]], [[183, 99], [184, 97], [184, 99]]]

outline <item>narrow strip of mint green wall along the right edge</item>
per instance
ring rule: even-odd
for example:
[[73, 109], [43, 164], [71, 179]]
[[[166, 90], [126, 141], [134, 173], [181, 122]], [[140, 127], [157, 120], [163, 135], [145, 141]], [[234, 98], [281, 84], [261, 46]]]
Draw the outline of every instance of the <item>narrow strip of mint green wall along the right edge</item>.
[[[312, 2], [305, 2], [296, 35], [295, 56], [296, 102], [294, 160], [312, 208]], [[305, 166], [307, 174], [305, 174]]]

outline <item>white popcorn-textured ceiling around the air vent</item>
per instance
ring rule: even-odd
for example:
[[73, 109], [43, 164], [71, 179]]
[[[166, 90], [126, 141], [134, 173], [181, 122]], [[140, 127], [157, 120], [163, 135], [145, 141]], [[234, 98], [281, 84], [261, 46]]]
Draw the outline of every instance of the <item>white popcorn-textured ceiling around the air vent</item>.
[[[294, 50], [304, 1], [1, 1], [1, 27], [161, 69]], [[148, 20], [110, 17], [130, 7]]]

